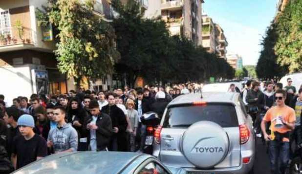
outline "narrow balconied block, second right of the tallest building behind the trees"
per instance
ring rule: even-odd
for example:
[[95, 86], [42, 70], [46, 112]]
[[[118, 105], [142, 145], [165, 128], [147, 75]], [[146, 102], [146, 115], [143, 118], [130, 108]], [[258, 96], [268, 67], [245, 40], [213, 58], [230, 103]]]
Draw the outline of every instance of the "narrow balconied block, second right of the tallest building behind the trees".
[[229, 43], [227, 42], [227, 39], [224, 35], [224, 31], [220, 27], [220, 25], [216, 23], [215, 26], [216, 26], [217, 40], [218, 40], [218, 45], [217, 45], [218, 56], [220, 58], [223, 58], [226, 60], [227, 59], [226, 58], [226, 54], [227, 54], [226, 47], [228, 46]]

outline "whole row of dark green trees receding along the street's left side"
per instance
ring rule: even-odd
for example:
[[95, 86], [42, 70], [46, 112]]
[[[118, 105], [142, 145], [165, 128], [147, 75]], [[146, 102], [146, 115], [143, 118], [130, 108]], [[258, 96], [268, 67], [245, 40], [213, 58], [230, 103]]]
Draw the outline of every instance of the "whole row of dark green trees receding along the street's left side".
[[119, 13], [113, 26], [121, 53], [115, 67], [117, 72], [129, 75], [131, 85], [139, 76], [148, 83], [234, 77], [234, 69], [224, 59], [206, 52], [201, 46], [195, 47], [187, 38], [170, 36], [161, 19], [144, 19], [135, 0], [125, 5], [113, 0], [112, 6]]

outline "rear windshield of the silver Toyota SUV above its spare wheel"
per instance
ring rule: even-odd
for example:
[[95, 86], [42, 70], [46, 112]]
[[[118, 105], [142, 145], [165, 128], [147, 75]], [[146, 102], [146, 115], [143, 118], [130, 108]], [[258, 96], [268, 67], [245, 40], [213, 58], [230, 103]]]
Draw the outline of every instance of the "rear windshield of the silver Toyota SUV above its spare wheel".
[[186, 128], [198, 121], [212, 121], [221, 127], [237, 127], [235, 107], [225, 104], [177, 106], [167, 110], [164, 128]]

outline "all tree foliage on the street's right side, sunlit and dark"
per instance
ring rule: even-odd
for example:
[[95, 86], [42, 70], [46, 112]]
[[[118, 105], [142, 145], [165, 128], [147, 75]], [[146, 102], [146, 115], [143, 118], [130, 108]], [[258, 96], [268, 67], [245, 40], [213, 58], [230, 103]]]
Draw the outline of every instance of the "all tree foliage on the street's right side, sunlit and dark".
[[302, 68], [302, 1], [290, 0], [268, 27], [257, 64], [259, 78], [281, 77]]

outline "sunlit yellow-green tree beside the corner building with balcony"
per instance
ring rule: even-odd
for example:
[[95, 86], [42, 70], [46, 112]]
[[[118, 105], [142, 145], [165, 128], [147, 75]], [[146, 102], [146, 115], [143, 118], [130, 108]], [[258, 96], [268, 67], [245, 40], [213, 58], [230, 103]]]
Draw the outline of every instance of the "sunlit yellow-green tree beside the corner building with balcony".
[[[57, 31], [54, 50], [58, 68], [77, 85], [83, 77], [97, 79], [113, 72], [119, 58], [114, 48], [114, 30], [108, 22], [96, 17], [95, 0], [48, 0], [38, 9], [39, 24], [52, 24]], [[80, 20], [79, 20], [80, 19]]]

